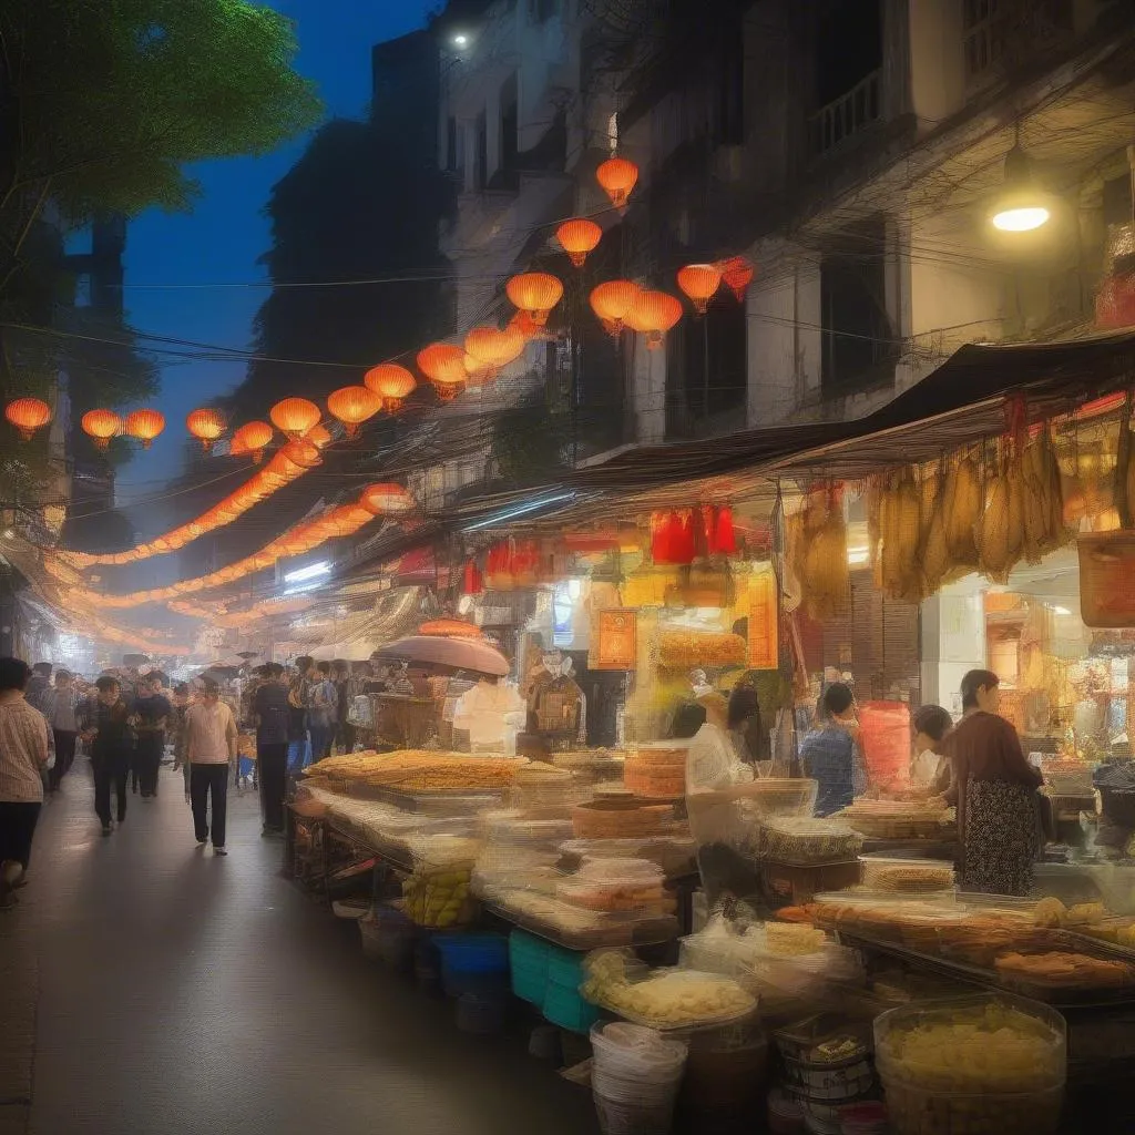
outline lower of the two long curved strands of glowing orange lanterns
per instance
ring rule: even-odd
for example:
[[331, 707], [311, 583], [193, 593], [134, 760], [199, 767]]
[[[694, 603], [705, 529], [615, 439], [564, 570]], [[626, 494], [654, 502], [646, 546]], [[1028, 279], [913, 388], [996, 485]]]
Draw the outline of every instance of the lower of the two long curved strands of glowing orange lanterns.
[[[393, 507], [387, 507], [393, 502]], [[125, 595], [104, 595], [92, 591], [89, 588], [73, 588], [69, 592], [72, 599], [78, 603], [96, 604], [101, 607], [126, 608], [140, 607], [146, 603], [161, 603], [176, 599], [183, 595], [194, 595], [197, 591], [208, 591], [215, 587], [222, 587], [233, 583], [253, 572], [270, 568], [278, 560], [288, 560], [293, 556], [303, 555], [311, 552], [327, 540], [345, 536], [353, 536], [364, 524], [369, 524], [376, 516], [390, 513], [405, 513], [413, 507], [410, 495], [396, 485], [371, 485], [359, 495], [353, 504], [337, 505], [327, 508], [321, 515], [313, 520], [301, 521], [294, 524], [283, 536], [277, 537], [266, 544], [259, 552], [254, 552], [243, 560], [238, 560], [227, 568], [210, 572], [208, 575], [199, 575], [194, 579], [180, 580], [169, 587], [151, 588], [142, 591], [131, 591]]]

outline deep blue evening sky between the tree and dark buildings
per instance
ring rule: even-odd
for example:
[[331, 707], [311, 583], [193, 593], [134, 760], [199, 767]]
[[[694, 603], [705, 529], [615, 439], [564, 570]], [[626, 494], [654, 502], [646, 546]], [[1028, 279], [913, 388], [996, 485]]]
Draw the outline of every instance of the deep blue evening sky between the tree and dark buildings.
[[[296, 24], [296, 67], [314, 79], [329, 116], [362, 117], [370, 100], [370, 48], [424, 24], [437, 0], [271, 0]], [[150, 212], [131, 225], [126, 247], [126, 309], [132, 326], [155, 335], [246, 348], [264, 287], [149, 288], [153, 284], [263, 280], [257, 263], [268, 249], [261, 210], [269, 191], [295, 161], [304, 141], [267, 158], [204, 162], [193, 170], [203, 194], [190, 215]], [[166, 364], [158, 407], [166, 434], [118, 477], [127, 507], [160, 491], [178, 472], [185, 415], [243, 378], [237, 362]]]

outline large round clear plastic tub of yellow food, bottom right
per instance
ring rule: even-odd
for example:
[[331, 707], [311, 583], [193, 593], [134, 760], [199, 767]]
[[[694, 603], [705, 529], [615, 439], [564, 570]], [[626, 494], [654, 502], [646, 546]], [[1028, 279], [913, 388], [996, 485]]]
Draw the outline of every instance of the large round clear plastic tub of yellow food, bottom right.
[[1063, 1018], [1004, 994], [903, 1006], [875, 1019], [896, 1135], [1053, 1135], [1067, 1075]]

